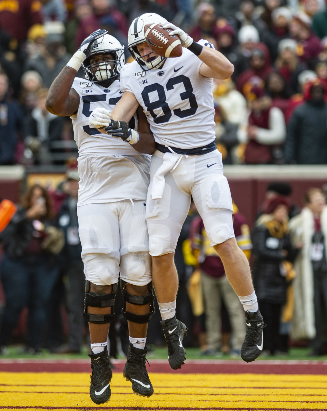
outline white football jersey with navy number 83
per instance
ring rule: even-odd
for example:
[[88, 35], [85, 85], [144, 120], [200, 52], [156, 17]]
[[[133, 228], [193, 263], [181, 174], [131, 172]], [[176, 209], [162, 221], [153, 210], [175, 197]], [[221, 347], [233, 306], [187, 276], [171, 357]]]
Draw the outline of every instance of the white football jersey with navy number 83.
[[[199, 43], [213, 48], [206, 40]], [[167, 58], [162, 69], [144, 71], [136, 61], [123, 67], [120, 90], [135, 95], [157, 143], [189, 149], [215, 139], [213, 79], [201, 76], [201, 64], [183, 48], [183, 54]]]

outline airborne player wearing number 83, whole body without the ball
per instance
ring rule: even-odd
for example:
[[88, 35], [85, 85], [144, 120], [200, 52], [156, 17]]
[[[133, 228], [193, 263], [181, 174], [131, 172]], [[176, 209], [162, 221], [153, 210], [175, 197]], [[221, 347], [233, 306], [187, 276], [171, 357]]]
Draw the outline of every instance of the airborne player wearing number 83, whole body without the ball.
[[[179, 36], [183, 46], [180, 57], [161, 57], [150, 48], [144, 26], [155, 23], [170, 30], [170, 36]], [[123, 67], [119, 83], [123, 95], [106, 130], [126, 138], [125, 122], [140, 105], [157, 143], [151, 158], [146, 221], [152, 279], [169, 364], [176, 369], [185, 360], [182, 340], [186, 327], [175, 316], [178, 277], [174, 250], [191, 195], [210, 243], [222, 259], [227, 278], [245, 309], [247, 332], [242, 359], [254, 361], [262, 350], [264, 324], [249, 263], [236, 244], [231, 193], [223, 174], [222, 155], [215, 145], [213, 79], [228, 79], [233, 65], [212, 44], [206, 40], [194, 42], [158, 14], [142, 14], [133, 21], [128, 48], [135, 61]]]

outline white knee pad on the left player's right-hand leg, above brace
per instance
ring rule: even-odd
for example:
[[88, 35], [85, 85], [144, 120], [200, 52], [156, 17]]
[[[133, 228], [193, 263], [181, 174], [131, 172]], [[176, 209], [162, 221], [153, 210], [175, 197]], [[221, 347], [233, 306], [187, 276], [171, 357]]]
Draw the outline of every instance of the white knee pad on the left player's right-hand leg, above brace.
[[129, 253], [120, 258], [120, 278], [133, 285], [151, 282], [151, 257], [148, 252]]

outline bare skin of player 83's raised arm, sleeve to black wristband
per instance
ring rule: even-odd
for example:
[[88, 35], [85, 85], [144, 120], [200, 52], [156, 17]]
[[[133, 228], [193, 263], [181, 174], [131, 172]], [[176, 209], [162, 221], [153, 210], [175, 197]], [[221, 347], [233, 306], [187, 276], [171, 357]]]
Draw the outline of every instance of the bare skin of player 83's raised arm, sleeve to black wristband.
[[229, 79], [234, 72], [232, 63], [220, 51], [213, 48], [204, 46], [199, 59], [204, 62], [199, 70], [204, 77], [225, 80]]

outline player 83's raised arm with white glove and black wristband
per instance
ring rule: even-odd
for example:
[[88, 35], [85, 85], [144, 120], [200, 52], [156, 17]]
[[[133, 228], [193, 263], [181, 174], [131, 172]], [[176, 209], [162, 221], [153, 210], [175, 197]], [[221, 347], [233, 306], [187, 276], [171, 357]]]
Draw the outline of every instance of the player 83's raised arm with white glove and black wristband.
[[234, 66], [219, 51], [214, 48], [204, 47], [202, 44], [194, 42], [192, 37], [172, 23], [165, 23], [162, 27], [172, 29], [173, 31], [169, 33], [169, 36], [177, 34], [181, 39], [182, 46], [192, 51], [192, 53], [197, 55], [204, 63], [199, 70], [202, 76], [209, 77], [210, 79], [225, 80], [229, 79], [233, 74]]

